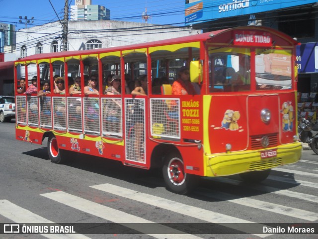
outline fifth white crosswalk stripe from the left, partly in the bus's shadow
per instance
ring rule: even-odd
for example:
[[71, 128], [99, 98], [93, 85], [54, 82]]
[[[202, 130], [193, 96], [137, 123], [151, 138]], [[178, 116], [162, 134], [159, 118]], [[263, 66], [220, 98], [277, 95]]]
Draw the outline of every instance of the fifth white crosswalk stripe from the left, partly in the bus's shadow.
[[[223, 183], [229, 183], [229, 184], [237, 185], [237, 186], [242, 186], [241, 181], [230, 179], [230, 178], [217, 178], [216, 177], [216, 178], [211, 178], [211, 180], [223, 182]], [[269, 187], [269, 186], [265, 186], [265, 185], [257, 185], [257, 186], [256, 185], [255, 186], [248, 185], [246, 187], [254, 189], [254, 190], [258, 190], [258, 191], [267, 192], [267, 193], [274, 193], [274, 194], [279, 194], [279, 195], [283, 195], [283, 196], [287, 196], [287, 197], [291, 197], [291, 198], [298, 198], [298, 199], [302, 199], [302, 200], [309, 201], [309, 202], [314, 202], [314, 203], [318, 202], [317, 196], [309, 195], [309, 194], [305, 194], [305, 193], [298, 193], [298, 192], [293, 192], [293, 191], [289, 191], [289, 190], [285, 190], [285, 189]]]

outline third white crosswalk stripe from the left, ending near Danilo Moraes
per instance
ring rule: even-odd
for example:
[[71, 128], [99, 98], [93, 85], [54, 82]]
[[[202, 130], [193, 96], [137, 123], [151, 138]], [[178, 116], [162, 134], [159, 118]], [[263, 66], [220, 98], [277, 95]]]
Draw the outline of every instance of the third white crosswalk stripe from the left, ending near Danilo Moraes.
[[[227, 216], [224, 214], [212, 212], [202, 208], [193, 207], [190, 205], [182, 204], [179, 202], [160, 198], [160, 197], [149, 195], [146, 193], [137, 192], [127, 188], [122, 188], [122, 187], [108, 184], [108, 183], [101, 184], [101, 185], [94, 185], [90, 187], [107, 192], [107, 193], [115, 194], [124, 198], [129, 198], [138, 202], [147, 203], [149, 205], [156, 206], [165, 210], [169, 210], [172, 212], [176, 212], [179, 214], [183, 214], [186, 216], [204, 220], [210, 223], [217, 223], [217, 224], [222, 224], [224, 222], [233, 223], [233, 224], [246, 223], [246, 224], [251, 224], [251, 227], [253, 228], [255, 227], [262, 228], [264, 226], [264, 225], [256, 224], [247, 220]], [[241, 231], [240, 225], [231, 225], [231, 228]], [[269, 235], [264, 234], [264, 235], [257, 235], [257, 236], [264, 238]]]

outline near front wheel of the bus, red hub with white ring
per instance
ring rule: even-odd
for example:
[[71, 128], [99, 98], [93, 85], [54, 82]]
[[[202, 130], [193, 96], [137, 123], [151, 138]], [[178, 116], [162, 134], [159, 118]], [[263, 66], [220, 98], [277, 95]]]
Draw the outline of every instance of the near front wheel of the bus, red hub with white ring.
[[184, 172], [183, 161], [176, 152], [165, 157], [162, 174], [166, 188], [173, 193], [185, 195], [197, 185], [198, 177]]

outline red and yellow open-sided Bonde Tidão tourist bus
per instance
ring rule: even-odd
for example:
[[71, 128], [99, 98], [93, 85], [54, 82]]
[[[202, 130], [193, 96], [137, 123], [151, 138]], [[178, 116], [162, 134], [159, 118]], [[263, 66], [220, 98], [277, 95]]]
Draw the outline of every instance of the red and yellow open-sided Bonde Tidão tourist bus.
[[[180, 194], [199, 176], [264, 180], [271, 168], [301, 157], [296, 45], [279, 31], [248, 26], [25, 57], [15, 62], [15, 73], [24, 71], [28, 82], [36, 69], [37, 90], [48, 80], [52, 94], [16, 94], [16, 139], [41, 144], [48, 137], [54, 163], [76, 151], [127, 166], [161, 167], [167, 188]], [[182, 66], [189, 66], [196, 94], [172, 94]], [[120, 95], [104, 94], [109, 74], [120, 75]], [[64, 78], [66, 94], [53, 93], [54, 75]], [[142, 75], [148, 94], [132, 95], [126, 86]], [[70, 95], [78, 76], [80, 94]], [[92, 76], [99, 94], [85, 96]], [[165, 84], [155, 86], [157, 78]]]

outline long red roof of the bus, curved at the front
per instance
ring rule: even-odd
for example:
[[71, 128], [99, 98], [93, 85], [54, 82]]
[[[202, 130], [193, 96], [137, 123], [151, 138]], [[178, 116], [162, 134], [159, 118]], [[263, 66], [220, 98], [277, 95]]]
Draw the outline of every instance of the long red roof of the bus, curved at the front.
[[117, 47], [110, 47], [110, 48], [98, 48], [98, 49], [93, 49], [93, 50], [78, 50], [78, 51], [64, 51], [64, 52], [34, 54], [31, 56], [27, 56], [27, 57], [24, 57], [22, 59], [19, 59], [15, 62], [18, 63], [18, 62], [37, 60], [37, 59], [59, 58], [59, 57], [69, 57], [69, 56], [75, 56], [75, 55], [97, 54], [97, 53], [102, 53], [102, 52], [113, 52], [113, 51], [129, 50], [129, 49], [139, 49], [139, 48], [145, 48], [145, 47], [149, 47], [149, 46], [159, 46], [159, 45], [166, 45], [166, 44], [172, 45], [172, 44], [191, 42], [191, 41], [192, 42], [193, 41], [205, 41], [207, 39], [210, 39], [210, 38], [213, 38], [213, 37], [219, 35], [220, 33], [228, 32], [228, 31], [232, 31], [232, 30], [268, 31], [274, 35], [277, 35], [279, 37], [284, 38], [291, 45], [298, 44], [297, 41], [295, 41], [294, 39], [292, 39], [290, 36], [286, 35], [285, 33], [277, 31], [277, 30], [269, 28], [269, 27], [265, 27], [265, 26], [240, 26], [240, 27], [216, 30], [216, 31], [211, 31], [211, 32], [206, 32], [206, 33], [201, 33], [201, 34], [182, 36], [182, 37], [177, 37], [177, 38], [170, 38], [170, 39], [165, 39], [165, 40], [132, 44], [132, 45], [126, 45], [126, 46], [117, 46]]

